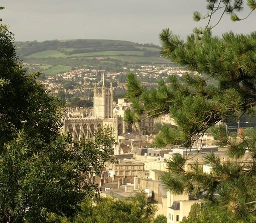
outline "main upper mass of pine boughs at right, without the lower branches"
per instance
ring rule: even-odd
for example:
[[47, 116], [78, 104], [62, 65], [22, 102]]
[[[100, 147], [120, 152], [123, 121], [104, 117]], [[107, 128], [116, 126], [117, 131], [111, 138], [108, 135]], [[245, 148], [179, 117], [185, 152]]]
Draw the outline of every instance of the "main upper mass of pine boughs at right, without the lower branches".
[[[155, 116], [170, 112], [183, 133], [184, 143], [190, 144], [191, 136], [198, 130], [205, 131], [231, 116], [238, 118], [243, 111], [253, 112], [249, 103], [255, 97], [253, 34], [227, 33], [220, 39], [205, 33], [200, 42], [191, 35], [186, 43], [177, 44], [177, 38], [165, 30], [162, 41], [163, 56], [202, 75], [187, 74], [181, 80], [172, 77], [168, 85], [160, 82], [157, 89], [144, 89], [135, 77], [127, 76], [127, 98], [133, 102], [136, 113]], [[211, 85], [209, 78], [218, 85]]]

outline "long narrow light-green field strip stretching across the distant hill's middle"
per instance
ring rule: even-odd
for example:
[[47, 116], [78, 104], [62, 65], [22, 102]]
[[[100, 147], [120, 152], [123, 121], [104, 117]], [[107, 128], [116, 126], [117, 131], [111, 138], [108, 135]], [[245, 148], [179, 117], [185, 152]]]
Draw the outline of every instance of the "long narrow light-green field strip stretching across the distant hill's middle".
[[82, 54], [72, 54], [71, 57], [94, 57], [94, 56], [144, 56], [144, 52], [141, 51], [100, 51]]

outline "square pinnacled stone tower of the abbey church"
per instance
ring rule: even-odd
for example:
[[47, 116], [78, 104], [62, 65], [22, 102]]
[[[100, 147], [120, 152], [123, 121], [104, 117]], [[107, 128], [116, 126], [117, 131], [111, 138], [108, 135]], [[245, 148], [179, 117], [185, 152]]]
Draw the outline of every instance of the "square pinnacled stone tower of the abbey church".
[[102, 88], [96, 84], [93, 89], [93, 116], [96, 118], [113, 117], [113, 87], [105, 87], [104, 73], [101, 73]]

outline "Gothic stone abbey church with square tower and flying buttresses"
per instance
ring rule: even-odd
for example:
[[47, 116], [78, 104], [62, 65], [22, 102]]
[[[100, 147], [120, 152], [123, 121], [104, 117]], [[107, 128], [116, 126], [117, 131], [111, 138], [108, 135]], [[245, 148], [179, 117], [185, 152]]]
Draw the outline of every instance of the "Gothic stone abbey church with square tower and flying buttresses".
[[[117, 138], [128, 131], [123, 114], [127, 106], [115, 106], [113, 103], [114, 90], [112, 85], [106, 88], [104, 74], [101, 74], [102, 87], [95, 84], [93, 89], [92, 108], [66, 108], [64, 132], [70, 132], [73, 139], [80, 140], [94, 135], [102, 128], [111, 128], [113, 137]], [[118, 107], [118, 108], [117, 108]]]

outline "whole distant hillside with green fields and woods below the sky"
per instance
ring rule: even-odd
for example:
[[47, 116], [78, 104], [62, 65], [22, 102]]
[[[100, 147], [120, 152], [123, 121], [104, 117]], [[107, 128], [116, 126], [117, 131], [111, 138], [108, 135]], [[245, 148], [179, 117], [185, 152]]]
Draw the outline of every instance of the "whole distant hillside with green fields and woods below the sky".
[[159, 56], [159, 46], [130, 41], [53, 40], [15, 44], [17, 55], [29, 71], [47, 75], [85, 66], [118, 71], [129, 66], [170, 63]]

